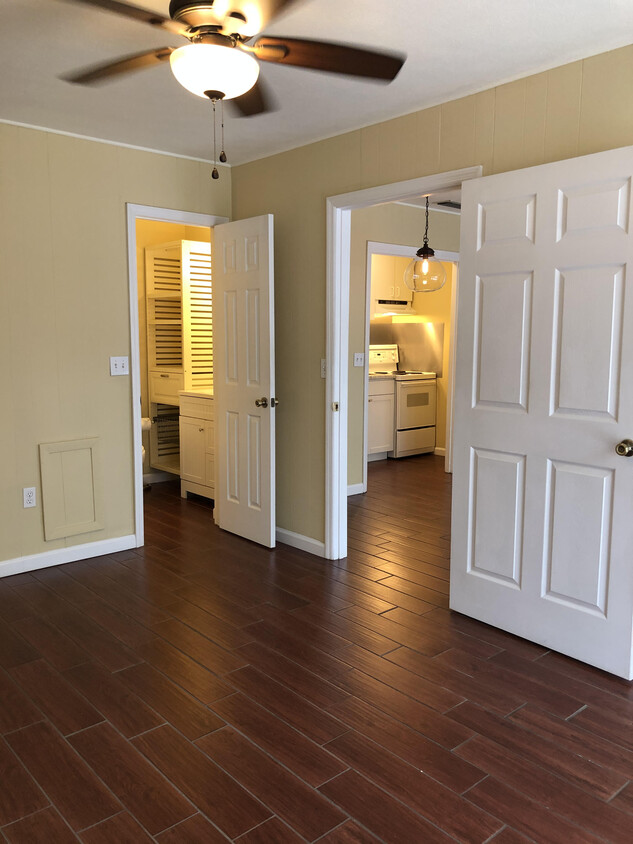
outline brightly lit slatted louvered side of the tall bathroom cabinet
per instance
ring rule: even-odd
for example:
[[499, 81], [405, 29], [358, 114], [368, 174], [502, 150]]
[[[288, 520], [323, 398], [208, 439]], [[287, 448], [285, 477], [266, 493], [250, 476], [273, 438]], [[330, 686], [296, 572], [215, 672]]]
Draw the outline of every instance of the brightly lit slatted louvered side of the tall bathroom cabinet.
[[185, 390], [213, 387], [211, 246], [182, 242], [183, 361]]

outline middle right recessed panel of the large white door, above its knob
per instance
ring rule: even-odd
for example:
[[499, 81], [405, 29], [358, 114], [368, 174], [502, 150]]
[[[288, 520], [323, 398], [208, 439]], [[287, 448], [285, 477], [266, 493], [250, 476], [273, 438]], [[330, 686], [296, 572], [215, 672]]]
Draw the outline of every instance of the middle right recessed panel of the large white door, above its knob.
[[557, 270], [552, 412], [617, 417], [624, 267]]

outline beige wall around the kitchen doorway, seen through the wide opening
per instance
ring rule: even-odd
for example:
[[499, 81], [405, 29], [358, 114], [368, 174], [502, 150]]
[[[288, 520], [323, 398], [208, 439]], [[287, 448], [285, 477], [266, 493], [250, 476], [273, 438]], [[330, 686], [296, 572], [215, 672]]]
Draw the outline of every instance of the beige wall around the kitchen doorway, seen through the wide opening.
[[[365, 348], [367, 243], [377, 241], [419, 247], [424, 236], [424, 222], [424, 210], [410, 205], [376, 205], [352, 211], [347, 423], [347, 482], [350, 485], [362, 482], [365, 461], [362, 435], [365, 373], [364, 369], [353, 366], [353, 360], [354, 352], [364, 351]], [[429, 234], [434, 249], [459, 252], [458, 215], [429, 212]]]

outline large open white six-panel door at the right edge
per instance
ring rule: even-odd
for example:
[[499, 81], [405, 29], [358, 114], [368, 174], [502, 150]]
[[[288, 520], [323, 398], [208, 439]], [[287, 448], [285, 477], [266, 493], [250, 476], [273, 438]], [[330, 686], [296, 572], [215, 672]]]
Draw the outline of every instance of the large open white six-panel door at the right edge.
[[626, 148], [463, 186], [451, 558], [452, 609], [627, 679], [632, 174]]

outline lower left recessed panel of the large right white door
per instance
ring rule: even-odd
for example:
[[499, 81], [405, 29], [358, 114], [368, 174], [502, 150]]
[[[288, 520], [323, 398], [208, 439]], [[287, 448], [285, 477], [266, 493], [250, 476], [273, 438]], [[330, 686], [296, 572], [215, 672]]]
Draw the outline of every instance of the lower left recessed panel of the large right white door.
[[521, 585], [525, 458], [472, 449], [468, 571]]

